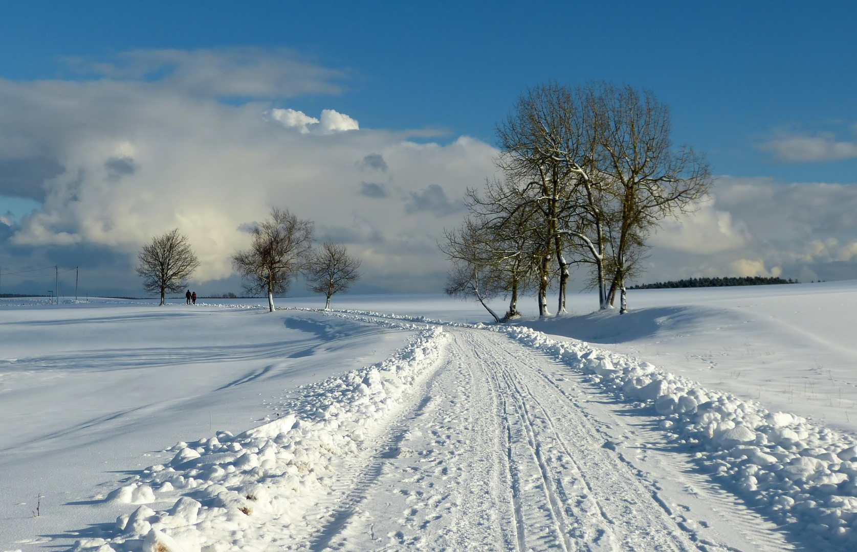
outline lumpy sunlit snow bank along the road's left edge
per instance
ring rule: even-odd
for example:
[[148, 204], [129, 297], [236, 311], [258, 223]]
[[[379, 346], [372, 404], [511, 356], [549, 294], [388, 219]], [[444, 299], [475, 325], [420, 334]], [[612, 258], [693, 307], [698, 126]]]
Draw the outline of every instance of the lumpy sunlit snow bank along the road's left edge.
[[[129, 510], [75, 550], [222, 552], [267, 549], [304, 535], [303, 513], [326, 496], [333, 460], [358, 454], [433, 371], [446, 334], [423, 328], [387, 360], [303, 387], [288, 415], [233, 436], [178, 442], [105, 499]], [[285, 539], [285, 540], [284, 540]]]

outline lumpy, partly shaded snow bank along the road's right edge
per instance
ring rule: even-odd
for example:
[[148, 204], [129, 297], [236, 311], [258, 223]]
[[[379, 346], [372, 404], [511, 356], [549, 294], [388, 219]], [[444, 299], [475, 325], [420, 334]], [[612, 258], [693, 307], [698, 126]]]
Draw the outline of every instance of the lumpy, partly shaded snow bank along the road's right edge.
[[755, 401], [701, 388], [654, 365], [590, 347], [554, 341], [528, 328], [493, 328], [588, 374], [593, 383], [635, 406], [649, 406], [722, 484], [752, 507], [796, 532], [813, 531], [857, 547], [857, 442], [805, 418], [770, 413]]

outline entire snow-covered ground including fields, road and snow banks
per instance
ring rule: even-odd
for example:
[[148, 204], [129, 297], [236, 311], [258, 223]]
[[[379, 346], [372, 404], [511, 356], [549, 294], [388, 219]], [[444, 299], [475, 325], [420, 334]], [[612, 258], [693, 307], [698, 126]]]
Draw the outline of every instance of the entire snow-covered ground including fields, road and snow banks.
[[857, 549], [857, 282], [262, 302], [0, 300], [0, 551]]

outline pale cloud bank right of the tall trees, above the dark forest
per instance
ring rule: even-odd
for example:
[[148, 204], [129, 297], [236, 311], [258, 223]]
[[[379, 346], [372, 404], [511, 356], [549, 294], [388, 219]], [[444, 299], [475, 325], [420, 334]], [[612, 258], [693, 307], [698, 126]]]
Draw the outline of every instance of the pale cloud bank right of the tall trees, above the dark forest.
[[720, 177], [697, 213], [664, 221], [642, 279], [857, 278], [855, 234], [854, 185]]

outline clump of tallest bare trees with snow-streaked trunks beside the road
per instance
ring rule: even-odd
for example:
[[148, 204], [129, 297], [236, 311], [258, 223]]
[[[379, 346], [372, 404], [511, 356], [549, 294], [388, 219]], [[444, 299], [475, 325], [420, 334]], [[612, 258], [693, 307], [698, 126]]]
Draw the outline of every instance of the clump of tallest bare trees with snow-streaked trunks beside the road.
[[[704, 158], [690, 147], [674, 149], [670, 130], [669, 110], [652, 92], [609, 83], [536, 86], [500, 124], [498, 166], [520, 191], [508, 196], [505, 210], [535, 205], [531, 228], [542, 235], [541, 316], [548, 314], [554, 258], [558, 313], [565, 312], [568, 266], [575, 263], [593, 266], [601, 308], [612, 306], [619, 291], [626, 311], [625, 282], [639, 270], [650, 231], [665, 217], [692, 211], [710, 187]], [[566, 260], [566, 252], [575, 257]]]

